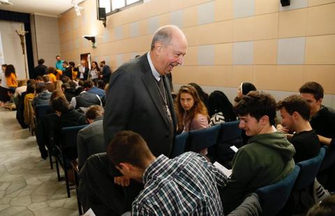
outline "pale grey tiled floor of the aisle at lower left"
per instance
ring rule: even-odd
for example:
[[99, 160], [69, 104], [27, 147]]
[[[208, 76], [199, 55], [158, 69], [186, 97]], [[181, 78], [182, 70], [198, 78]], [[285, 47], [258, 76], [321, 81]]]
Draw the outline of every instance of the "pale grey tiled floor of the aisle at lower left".
[[78, 215], [75, 191], [67, 198], [65, 182], [41, 159], [35, 136], [15, 114], [0, 108], [0, 215]]

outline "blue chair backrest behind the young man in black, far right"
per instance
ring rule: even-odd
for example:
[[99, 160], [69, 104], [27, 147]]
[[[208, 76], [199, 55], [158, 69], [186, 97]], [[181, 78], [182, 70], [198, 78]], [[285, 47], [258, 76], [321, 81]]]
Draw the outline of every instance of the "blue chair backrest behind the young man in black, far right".
[[323, 158], [325, 157], [325, 153], [325, 147], [321, 147], [318, 156], [297, 163], [297, 166], [300, 167], [300, 172], [295, 182], [295, 187], [293, 187], [294, 190], [300, 190], [313, 184]]

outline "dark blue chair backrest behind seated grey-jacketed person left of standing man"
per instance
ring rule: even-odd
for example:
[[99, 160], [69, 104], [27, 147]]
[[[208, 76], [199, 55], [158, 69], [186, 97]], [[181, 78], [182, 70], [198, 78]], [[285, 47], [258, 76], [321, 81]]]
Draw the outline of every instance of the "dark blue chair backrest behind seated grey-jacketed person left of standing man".
[[87, 124], [74, 127], [64, 127], [61, 129], [61, 152], [63, 157], [68, 159], [77, 158], [77, 134], [86, 126]]

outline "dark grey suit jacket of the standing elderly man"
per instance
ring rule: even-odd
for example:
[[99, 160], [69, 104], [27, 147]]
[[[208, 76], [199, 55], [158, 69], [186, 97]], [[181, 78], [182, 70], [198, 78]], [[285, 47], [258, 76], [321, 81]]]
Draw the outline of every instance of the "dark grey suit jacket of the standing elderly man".
[[132, 59], [112, 73], [103, 120], [106, 145], [118, 131], [131, 130], [144, 138], [156, 157], [160, 154], [170, 156], [177, 120], [170, 85], [164, 76], [163, 81], [168, 92], [173, 130], [169, 130], [147, 54]]

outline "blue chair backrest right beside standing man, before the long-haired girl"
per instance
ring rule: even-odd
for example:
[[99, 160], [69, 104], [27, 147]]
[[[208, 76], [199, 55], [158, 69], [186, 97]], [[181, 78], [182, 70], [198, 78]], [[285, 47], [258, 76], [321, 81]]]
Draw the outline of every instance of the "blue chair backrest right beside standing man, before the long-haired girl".
[[189, 151], [199, 152], [218, 143], [218, 134], [221, 131], [221, 124], [214, 125], [206, 129], [189, 131], [188, 147]]

